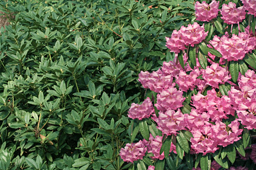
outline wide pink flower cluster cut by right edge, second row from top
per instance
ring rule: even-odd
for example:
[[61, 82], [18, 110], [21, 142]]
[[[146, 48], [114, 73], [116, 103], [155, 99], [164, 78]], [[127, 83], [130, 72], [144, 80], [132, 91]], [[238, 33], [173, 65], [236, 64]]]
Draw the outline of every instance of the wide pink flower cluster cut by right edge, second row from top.
[[[251, 37], [249, 32], [241, 32], [239, 35], [233, 34], [231, 38], [223, 35], [221, 38], [215, 37], [209, 41], [215, 50], [222, 54], [222, 58], [228, 61], [238, 61], [245, 57], [245, 54], [256, 48], [256, 38]], [[222, 61], [223, 61], [222, 59]]]

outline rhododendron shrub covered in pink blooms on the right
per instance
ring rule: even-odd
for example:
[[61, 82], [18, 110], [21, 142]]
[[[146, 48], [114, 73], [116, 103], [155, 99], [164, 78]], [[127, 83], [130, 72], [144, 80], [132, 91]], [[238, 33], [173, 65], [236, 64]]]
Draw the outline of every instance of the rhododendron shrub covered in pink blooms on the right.
[[[132, 142], [144, 138], [149, 169], [178, 169], [178, 161], [187, 169], [254, 169], [256, 3], [209, 3], [197, 1], [197, 21], [166, 37], [173, 61], [139, 73], [148, 98], [128, 116]], [[244, 159], [246, 148], [252, 156]]]

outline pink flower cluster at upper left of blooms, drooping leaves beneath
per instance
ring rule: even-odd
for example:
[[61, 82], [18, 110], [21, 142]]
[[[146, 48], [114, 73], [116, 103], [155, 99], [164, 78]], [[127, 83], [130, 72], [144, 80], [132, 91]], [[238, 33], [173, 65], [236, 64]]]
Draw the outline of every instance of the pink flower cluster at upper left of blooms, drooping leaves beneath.
[[204, 32], [204, 25], [200, 26], [197, 22], [188, 24], [188, 27], [182, 26], [179, 31], [174, 30], [171, 38], [166, 37], [166, 47], [174, 53], [180, 53], [180, 50], [185, 50], [185, 45], [199, 44], [206, 38], [208, 32]]

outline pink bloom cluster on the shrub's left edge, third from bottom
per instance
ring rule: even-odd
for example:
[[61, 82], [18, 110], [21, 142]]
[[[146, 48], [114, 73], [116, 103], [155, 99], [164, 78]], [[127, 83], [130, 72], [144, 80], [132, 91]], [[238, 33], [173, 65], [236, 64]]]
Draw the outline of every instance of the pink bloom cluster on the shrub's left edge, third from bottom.
[[164, 89], [168, 89], [172, 84], [172, 75], [163, 74], [159, 69], [149, 73], [141, 71], [139, 74], [140, 83], [145, 89], [150, 89], [156, 93], [160, 93]]

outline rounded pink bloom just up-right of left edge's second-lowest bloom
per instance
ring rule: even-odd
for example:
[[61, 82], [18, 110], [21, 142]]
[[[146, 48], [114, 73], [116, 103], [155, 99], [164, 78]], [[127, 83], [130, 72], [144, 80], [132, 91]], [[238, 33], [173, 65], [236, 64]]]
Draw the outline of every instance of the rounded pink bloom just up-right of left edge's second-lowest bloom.
[[[174, 83], [175, 84], [175, 83]], [[157, 102], [155, 104], [156, 109], [165, 111], [167, 109], [178, 109], [183, 106], [185, 97], [183, 92], [177, 90], [174, 86], [169, 87], [167, 90], [163, 90], [157, 94]]]

